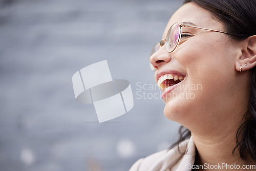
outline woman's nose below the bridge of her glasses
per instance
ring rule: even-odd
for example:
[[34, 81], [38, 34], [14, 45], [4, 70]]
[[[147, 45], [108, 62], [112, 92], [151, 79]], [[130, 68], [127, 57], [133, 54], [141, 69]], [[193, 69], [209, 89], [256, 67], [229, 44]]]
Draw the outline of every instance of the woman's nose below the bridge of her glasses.
[[165, 50], [165, 46], [161, 47], [150, 57], [150, 63], [156, 70], [158, 70], [165, 63], [168, 63], [170, 60], [172, 60], [172, 56]]

